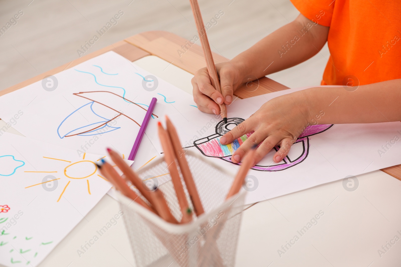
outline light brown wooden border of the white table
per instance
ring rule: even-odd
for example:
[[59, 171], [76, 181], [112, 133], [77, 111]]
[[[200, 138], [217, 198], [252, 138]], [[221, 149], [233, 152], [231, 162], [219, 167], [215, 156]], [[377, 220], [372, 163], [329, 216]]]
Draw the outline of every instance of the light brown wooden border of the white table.
[[[167, 53], [163, 53], [163, 52], [160, 52], [160, 50], [154, 49], [154, 46], [152, 46], [152, 41], [154, 41], [158, 38], [164, 38], [165, 40], [170, 41], [170, 43], [172, 43], [172, 44], [177, 44], [178, 48], [180, 48], [180, 44], [186, 43], [186, 40], [184, 38], [182, 38], [176, 34], [172, 34], [170, 32], [165, 32], [165, 31], [142, 32], [140, 34], [136, 34], [136, 35], [128, 37], [122, 41], [119, 41], [119, 42], [116, 42], [109, 46], [106, 46], [104, 48], [101, 48], [95, 52], [87, 54], [86, 56], [77, 58], [69, 63], [63, 64], [62, 66], [59, 66], [57, 68], [54, 68], [52, 70], [49, 70], [42, 74], [39, 74], [35, 77], [25, 80], [24, 82], [20, 82], [14, 86], [6, 88], [6, 89], [0, 91], [0, 96], [7, 94], [9, 92], [18, 90], [20, 88], [23, 88], [34, 82], [37, 82], [37, 81], [43, 79], [47, 75], [57, 74], [63, 70], [66, 70], [67, 68], [71, 68], [79, 63], [82, 63], [88, 59], [94, 58], [95, 56], [99, 56], [100, 54], [104, 54], [105, 52], [108, 52], [108, 51], [114, 51], [114, 52], [124, 56], [131, 62], [138, 60], [144, 56], [149, 56], [149, 55], [155, 55], [155, 56], [158, 56], [165, 60], [168, 59], [167, 61], [169, 61], [171, 58], [174, 58], [174, 55], [168, 56], [168, 55], [166, 55]], [[187, 62], [193, 61], [193, 62], [196, 62], [197, 64], [202, 65], [202, 62], [199, 62], [200, 58], [196, 57], [199, 55], [199, 53], [200, 53], [199, 51], [202, 50], [201, 46], [198, 46], [196, 44], [192, 44], [192, 46], [191, 46], [191, 50], [188, 50], [188, 51], [190, 51], [190, 53], [188, 53]], [[175, 51], [175, 47], [174, 47], [174, 51]], [[192, 55], [192, 58], [190, 57], [191, 55]], [[227, 58], [222, 58], [221, 55], [216, 54], [216, 53], [213, 53], [213, 57], [215, 59], [218, 58], [219, 62], [223, 62], [223, 61], [227, 60]], [[176, 60], [176, 63], [174, 63], [174, 60], [172, 60], [173, 61], [172, 64], [194, 74], [194, 71], [191, 70], [189, 68], [189, 66], [183, 64], [182, 60], [180, 60], [180, 58], [178, 56], [176, 56], [175, 60]], [[178, 64], [178, 63], [181, 63], [181, 64]], [[203, 60], [203, 63], [204, 63], [204, 60]], [[204, 64], [204, 65], [206, 66], [206, 64]], [[257, 85], [256, 89], [253, 89], [253, 88], [250, 88], [247, 86], [243, 86], [242, 88], [239, 88], [235, 92], [235, 95], [239, 96], [240, 98], [247, 98], [247, 97], [257, 96], [257, 95], [265, 94], [265, 93], [269, 93], [269, 92], [275, 92], [275, 91], [279, 91], [279, 90], [288, 89], [287, 86], [284, 86], [283, 84], [275, 82], [267, 77], [258, 79], [257, 83], [255, 82], [255, 85]], [[381, 169], [381, 171], [401, 180], [401, 165]]]

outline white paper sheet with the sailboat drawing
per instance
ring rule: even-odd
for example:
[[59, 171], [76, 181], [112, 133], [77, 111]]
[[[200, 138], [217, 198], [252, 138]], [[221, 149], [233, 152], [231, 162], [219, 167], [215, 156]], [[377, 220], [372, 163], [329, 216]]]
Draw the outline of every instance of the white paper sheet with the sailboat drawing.
[[[1, 96], [0, 118], [26, 137], [77, 155], [111, 147], [128, 158], [152, 97], [159, 118], [185, 119], [182, 114], [196, 110], [192, 96], [110, 51]], [[146, 133], [155, 130], [156, 116]]]

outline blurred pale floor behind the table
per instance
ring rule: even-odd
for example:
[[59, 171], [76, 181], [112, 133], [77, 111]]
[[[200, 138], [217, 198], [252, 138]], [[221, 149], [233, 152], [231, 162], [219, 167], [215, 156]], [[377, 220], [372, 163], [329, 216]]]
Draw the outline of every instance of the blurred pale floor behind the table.
[[[199, 4], [205, 23], [219, 10], [224, 12], [207, 34], [212, 50], [229, 59], [299, 14], [289, 0]], [[189, 1], [182, 0], [0, 0], [0, 27], [19, 10], [23, 15], [0, 36], [0, 90], [78, 58], [81, 45], [98, 35], [96, 31], [119, 10], [124, 15], [88, 52], [149, 30], [173, 32], [188, 40], [196, 34]], [[269, 77], [292, 88], [318, 85], [329, 55], [326, 44], [308, 61]]]

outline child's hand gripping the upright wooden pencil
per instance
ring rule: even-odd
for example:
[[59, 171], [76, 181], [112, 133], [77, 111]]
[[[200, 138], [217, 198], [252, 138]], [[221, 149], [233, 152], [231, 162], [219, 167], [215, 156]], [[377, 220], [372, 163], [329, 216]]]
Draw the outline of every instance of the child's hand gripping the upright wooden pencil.
[[216, 69], [220, 78], [221, 94], [212, 86], [207, 68], [196, 71], [191, 82], [198, 109], [217, 115], [220, 113], [218, 104], [224, 102], [229, 105], [233, 101], [233, 92], [241, 84], [241, 78], [237, 68], [230, 62], [216, 64]]

